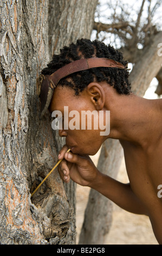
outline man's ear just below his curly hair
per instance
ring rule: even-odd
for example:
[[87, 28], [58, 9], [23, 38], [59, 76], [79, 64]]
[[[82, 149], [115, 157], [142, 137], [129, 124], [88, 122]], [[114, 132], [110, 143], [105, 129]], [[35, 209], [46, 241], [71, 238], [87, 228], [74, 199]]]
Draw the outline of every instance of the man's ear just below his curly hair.
[[92, 82], [87, 86], [87, 94], [97, 110], [101, 110], [105, 105], [105, 92], [99, 83]]

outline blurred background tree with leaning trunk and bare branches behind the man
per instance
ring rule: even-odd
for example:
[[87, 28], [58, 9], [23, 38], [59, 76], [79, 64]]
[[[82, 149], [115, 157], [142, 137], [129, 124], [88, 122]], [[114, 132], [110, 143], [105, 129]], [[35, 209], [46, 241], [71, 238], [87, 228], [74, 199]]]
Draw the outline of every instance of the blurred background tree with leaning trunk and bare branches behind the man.
[[[161, 1], [131, 1], [132, 5], [124, 4], [125, 1], [100, 2], [96, 10], [93, 38], [96, 36], [114, 45], [132, 63], [129, 80], [135, 94], [144, 96], [156, 77], [159, 82], [156, 92], [160, 95], [162, 57], [158, 51], [162, 43]], [[102, 145], [98, 169], [116, 178], [122, 156], [119, 142], [108, 139]], [[112, 202], [90, 190], [79, 243], [104, 244], [111, 223]]]

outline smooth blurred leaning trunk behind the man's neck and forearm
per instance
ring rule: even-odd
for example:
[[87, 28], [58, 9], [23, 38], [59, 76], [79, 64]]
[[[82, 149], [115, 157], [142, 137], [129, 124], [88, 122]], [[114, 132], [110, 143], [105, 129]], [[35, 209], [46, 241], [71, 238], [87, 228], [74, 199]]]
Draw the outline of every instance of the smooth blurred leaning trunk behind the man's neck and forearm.
[[[141, 57], [133, 68], [129, 80], [135, 94], [143, 96], [152, 79], [157, 76], [162, 63], [162, 57], [158, 56], [157, 47], [162, 41], [162, 32], [154, 36], [154, 39], [141, 53]], [[120, 167], [122, 148], [119, 141], [108, 139], [102, 145], [98, 169], [116, 178]], [[120, 195], [119, 195], [120, 196]], [[80, 244], [104, 244], [106, 235], [112, 223], [112, 202], [102, 194], [90, 190], [89, 200], [85, 211]]]

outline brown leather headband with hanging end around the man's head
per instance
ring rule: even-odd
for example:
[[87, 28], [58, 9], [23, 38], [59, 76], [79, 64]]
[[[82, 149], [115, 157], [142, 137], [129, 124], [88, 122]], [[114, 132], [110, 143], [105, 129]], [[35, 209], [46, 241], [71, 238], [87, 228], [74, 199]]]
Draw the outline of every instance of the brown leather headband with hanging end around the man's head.
[[113, 59], [107, 58], [89, 58], [89, 59], [79, 59], [71, 62], [62, 68], [56, 70], [51, 75], [41, 75], [38, 78], [38, 84], [40, 88], [40, 98], [41, 98], [41, 117], [47, 111], [51, 98], [53, 96], [53, 90], [59, 83], [59, 81], [75, 72], [82, 70], [92, 69], [92, 68], [118, 68], [125, 69], [126, 67]]

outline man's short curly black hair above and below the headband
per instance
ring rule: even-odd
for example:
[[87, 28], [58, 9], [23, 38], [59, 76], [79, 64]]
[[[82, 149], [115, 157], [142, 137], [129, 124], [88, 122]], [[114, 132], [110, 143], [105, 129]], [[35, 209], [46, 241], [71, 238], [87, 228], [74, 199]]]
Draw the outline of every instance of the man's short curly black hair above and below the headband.
[[[42, 70], [43, 75], [51, 75], [57, 69], [81, 58], [109, 58], [127, 66], [128, 62], [123, 60], [123, 55], [110, 45], [105, 45], [99, 40], [90, 41], [89, 39], [79, 39], [76, 44], [72, 43], [69, 47], [64, 46], [60, 54], [54, 54], [53, 59]], [[118, 68], [92, 68], [75, 72], [62, 78], [57, 86], [68, 86], [75, 90], [75, 95], [79, 95], [89, 83], [106, 81], [113, 86], [119, 94], [130, 94], [131, 84], [128, 81], [128, 69]]]

